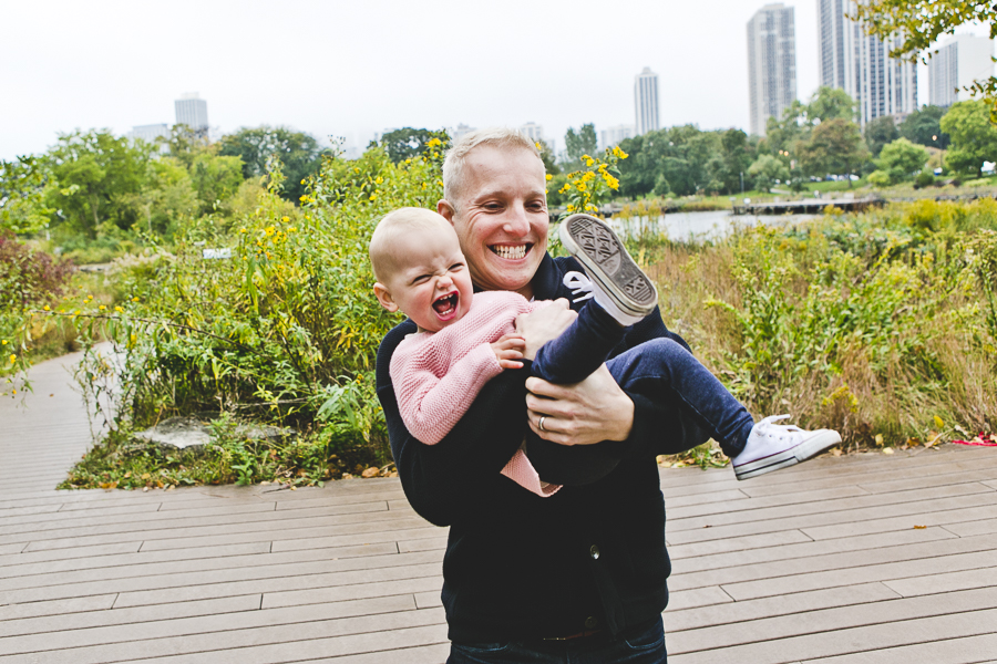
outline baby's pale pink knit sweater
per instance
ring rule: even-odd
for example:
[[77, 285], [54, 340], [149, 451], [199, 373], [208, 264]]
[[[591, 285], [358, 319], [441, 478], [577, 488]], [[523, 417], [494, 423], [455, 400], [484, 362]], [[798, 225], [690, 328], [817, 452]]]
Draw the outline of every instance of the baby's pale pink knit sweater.
[[[474, 293], [471, 310], [439, 332], [419, 332], [402, 341], [391, 357], [391, 382], [402, 421], [415, 438], [435, 445], [450, 433], [482, 386], [502, 372], [490, 344], [516, 331], [516, 317], [549, 302], [530, 302], [518, 293]], [[541, 480], [521, 448], [502, 474], [537, 496], [559, 485]]]

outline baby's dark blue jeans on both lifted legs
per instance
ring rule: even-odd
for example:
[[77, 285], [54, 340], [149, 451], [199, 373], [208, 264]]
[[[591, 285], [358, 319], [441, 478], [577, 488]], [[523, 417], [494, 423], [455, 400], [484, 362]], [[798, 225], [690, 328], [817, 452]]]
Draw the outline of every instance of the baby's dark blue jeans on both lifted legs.
[[649, 398], [671, 398], [734, 457], [744, 449], [754, 419], [717, 376], [692, 353], [670, 339], [654, 339], [613, 360], [606, 357], [623, 341], [621, 328], [589, 301], [561, 336], [537, 352], [533, 374], [552, 383], [577, 383], [603, 362], [626, 392]]

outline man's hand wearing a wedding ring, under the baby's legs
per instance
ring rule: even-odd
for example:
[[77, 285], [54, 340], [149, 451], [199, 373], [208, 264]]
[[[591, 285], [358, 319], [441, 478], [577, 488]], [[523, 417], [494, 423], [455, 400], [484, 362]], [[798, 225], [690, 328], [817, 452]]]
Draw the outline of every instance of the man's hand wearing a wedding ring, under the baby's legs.
[[[539, 310], [543, 311], [543, 310]], [[559, 445], [626, 440], [634, 426], [634, 402], [603, 364], [574, 385], [526, 378], [526, 415], [541, 438]], [[544, 428], [539, 418], [544, 417]]]

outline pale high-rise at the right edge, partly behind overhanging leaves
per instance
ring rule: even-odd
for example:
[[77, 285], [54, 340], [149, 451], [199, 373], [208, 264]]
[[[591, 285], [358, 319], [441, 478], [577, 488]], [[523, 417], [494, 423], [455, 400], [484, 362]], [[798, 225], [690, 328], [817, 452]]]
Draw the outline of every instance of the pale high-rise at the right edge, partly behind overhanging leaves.
[[986, 37], [957, 34], [938, 48], [928, 61], [928, 103], [952, 106], [966, 101], [963, 90], [994, 75], [994, 42]]

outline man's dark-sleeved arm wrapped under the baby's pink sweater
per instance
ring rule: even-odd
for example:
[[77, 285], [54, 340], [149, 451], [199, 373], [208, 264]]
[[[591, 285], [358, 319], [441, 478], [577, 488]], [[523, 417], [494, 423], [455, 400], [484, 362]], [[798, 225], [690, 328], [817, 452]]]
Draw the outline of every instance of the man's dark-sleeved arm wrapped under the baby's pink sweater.
[[523, 402], [525, 369], [505, 370], [484, 384], [477, 398], [439, 444], [412, 436], [399, 413], [389, 366], [395, 347], [414, 324], [402, 323], [378, 349], [378, 398], [384, 409], [391, 452], [412, 508], [436, 526], [459, 521], [487, 492], [490, 483], [508, 481], [501, 470], [526, 432]]

